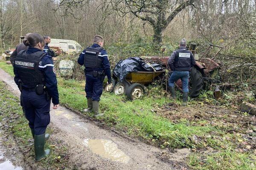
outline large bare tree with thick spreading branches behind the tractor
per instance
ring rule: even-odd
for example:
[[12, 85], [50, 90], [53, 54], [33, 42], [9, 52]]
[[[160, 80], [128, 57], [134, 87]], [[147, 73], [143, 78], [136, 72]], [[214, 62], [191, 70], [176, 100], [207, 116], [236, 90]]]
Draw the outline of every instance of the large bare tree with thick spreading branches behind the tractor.
[[163, 31], [180, 11], [194, 2], [195, 0], [104, 0], [102, 7], [117, 11], [121, 17], [132, 13], [148, 22], [153, 27], [153, 41], [160, 47]]

